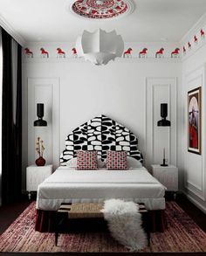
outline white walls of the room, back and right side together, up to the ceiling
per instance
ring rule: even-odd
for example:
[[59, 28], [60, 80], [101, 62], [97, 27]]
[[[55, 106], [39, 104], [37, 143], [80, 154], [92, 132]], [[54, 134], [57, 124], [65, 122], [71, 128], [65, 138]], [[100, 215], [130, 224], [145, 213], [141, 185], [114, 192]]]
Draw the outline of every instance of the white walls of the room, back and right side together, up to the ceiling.
[[[206, 38], [201, 38], [201, 29], [206, 31], [206, 15], [180, 44], [126, 44], [126, 49], [132, 47], [134, 50], [133, 59], [116, 60], [107, 66], [92, 66], [81, 59], [71, 59], [74, 44], [29, 44], [34, 58], [23, 58], [24, 170], [37, 157], [34, 150], [37, 135], [45, 140], [47, 163], [57, 166], [65, 136], [95, 115], [106, 114], [138, 136], [148, 169], [151, 163], [160, 163], [162, 148], [166, 148], [169, 162], [179, 168], [179, 190], [206, 212]], [[198, 44], [194, 43], [194, 35]], [[192, 45], [191, 50], [188, 42]], [[50, 52], [50, 59], [40, 59], [41, 46]], [[162, 46], [165, 58], [154, 59], [155, 52]], [[171, 52], [178, 46], [185, 46], [186, 54], [180, 60], [170, 59]], [[66, 52], [66, 59], [57, 59], [58, 47]], [[138, 59], [144, 47], [148, 48], [148, 59]], [[187, 94], [197, 86], [203, 89], [201, 156], [189, 153], [187, 142]], [[47, 128], [32, 126], [39, 100], [45, 102]], [[171, 128], [156, 126], [161, 101], [168, 102]]]

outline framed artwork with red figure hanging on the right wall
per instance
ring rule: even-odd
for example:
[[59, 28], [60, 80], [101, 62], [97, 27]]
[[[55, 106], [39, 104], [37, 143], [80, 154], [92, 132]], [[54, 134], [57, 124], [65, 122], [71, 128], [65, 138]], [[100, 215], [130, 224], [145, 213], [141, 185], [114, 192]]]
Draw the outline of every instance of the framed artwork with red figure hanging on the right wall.
[[201, 87], [188, 92], [188, 151], [201, 155]]

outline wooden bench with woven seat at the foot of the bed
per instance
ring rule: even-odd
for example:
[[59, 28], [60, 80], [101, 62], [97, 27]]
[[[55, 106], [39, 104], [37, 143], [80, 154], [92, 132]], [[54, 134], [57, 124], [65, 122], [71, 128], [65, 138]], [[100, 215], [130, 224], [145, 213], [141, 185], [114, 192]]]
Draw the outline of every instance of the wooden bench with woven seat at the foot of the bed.
[[[57, 211], [56, 216], [56, 227], [55, 227], [55, 245], [58, 245], [58, 234], [65, 230], [65, 225], [74, 221], [74, 225], [81, 223], [88, 223], [88, 220], [92, 220], [91, 223], [94, 225], [94, 220], [96, 224], [103, 223], [106, 226], [106, 221], [104, 220], [104, 213], [101, 210], [104, 207], [104, 203], [68, 203], [61, 204]], [[148, 210], [145, 208], [145, 204], [139, 204], [139, 212], [142, 218], [142, 228], [147, 233], [148, 236], [148, 246], [150, 245], [150, 231], [149, 231], [149, 220], [148, 220]], [[82, 222], [83, 220], [83, 222]], [[70, 225], [69, 225], [70, 226]]]

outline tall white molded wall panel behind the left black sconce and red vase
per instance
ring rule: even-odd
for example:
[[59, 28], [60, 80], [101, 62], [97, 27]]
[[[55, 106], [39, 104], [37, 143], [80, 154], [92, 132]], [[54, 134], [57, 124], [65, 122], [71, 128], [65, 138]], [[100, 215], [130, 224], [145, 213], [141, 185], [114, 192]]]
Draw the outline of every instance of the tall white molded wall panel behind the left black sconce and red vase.
[[[38, 158], [35, 151], [37, 137], [44, 141], [46, 164], [59, 165], [59, 123], [60, 123], [60, 86], [58, 78], [28, 78], [28, 164]], [[47, 127], [34, 127], [37, 120], [37, 103], [45, 104]]]

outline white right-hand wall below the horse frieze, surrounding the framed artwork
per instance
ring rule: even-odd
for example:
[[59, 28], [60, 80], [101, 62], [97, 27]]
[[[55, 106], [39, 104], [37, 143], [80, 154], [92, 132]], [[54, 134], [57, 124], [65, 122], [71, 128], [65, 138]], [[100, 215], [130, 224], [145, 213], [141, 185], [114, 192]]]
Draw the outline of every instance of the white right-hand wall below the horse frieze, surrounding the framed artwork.
[[[182, 156], [184, 173], [184, 193], [189, 199], [206, 212], [206, 168], [205, 168], [205, 71], [206, 71], [206, 45], [191, 52], [182, 62]], [[191, 89], [202, 86], [202, 154], [196, 155], [188, 152], [188, 101], [187, 95]]]

